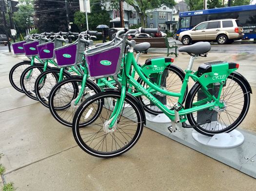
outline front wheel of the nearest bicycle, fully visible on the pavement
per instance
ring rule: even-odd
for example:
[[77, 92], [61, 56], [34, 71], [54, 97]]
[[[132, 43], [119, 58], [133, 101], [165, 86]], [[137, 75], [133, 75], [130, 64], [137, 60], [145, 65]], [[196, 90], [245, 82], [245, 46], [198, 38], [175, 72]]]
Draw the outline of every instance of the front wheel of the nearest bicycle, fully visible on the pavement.
[[[118, 99], [120, 92], [105, 91], [90, 97], [79, 106], [73, 120], [73, 135], [86, 153], [103, 158], [119, 156], [138, 141], [143, 130], [143, 110], [129, 96], [125, 97], [121, 116], [112, 130], [109, 131], [105, 125]], [[99, 104], [103, 107], [95, 115]], [[82, 128], [79, 126], [79, 123], [88, 121], [91, 121], [89, 125]]]

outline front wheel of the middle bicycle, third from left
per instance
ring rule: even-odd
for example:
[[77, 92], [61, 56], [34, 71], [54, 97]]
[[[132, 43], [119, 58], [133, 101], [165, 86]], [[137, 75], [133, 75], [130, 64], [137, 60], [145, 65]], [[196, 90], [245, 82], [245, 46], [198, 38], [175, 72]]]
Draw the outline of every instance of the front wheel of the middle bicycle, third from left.
[[[45, 107], [49, 108], [49, 94], [52, 88], [58, 83], [60, 69], [47, 69], [42, 72], [35, 82], [35, 93], [39, 102]], [[69, 78], [71, 75], [63, 70], [63, 80]]]

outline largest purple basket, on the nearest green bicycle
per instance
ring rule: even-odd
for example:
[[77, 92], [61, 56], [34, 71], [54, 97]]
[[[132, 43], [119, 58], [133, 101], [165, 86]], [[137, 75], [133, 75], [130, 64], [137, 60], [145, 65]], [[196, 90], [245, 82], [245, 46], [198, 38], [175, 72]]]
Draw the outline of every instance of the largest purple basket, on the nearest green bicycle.
[[115, 74], [120, 52], [120, 47], [116, 47], [94, 55], [85, 56], [90, 76], [111, 76]]

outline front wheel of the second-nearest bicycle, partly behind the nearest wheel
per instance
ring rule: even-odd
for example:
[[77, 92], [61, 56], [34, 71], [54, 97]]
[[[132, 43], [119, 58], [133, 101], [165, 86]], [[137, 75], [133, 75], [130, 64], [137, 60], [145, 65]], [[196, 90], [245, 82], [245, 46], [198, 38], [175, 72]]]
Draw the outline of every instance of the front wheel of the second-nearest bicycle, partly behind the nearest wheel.
[[53, 117], [65, 126], [72, 127], [73, 117], [79, 105], [86, 98], [101, 91], [94, 82], [87, 79], [79, 104], [75, 105], [81, 84], [82, 77], [70, 77], [56, 84], [49, 94], [49, 109]]

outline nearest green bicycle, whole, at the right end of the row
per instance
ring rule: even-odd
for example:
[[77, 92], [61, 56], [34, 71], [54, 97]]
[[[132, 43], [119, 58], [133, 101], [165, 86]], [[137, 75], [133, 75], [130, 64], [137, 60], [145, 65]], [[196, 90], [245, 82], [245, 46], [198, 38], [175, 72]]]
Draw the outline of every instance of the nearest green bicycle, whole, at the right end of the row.
[[[154, 33], [156, 29], [139, 28], [139, 32]], [[188, 69], [185, 70], [185, 80], [179, 93], [169, 92], [164, 87], [158, 87], [149, 80], [152, 70], [163, 72], [167, 64], [165, 59], [152, 59], [146, 63], [145, 69], [140, 69], [134, 59], [132, 50], [133, 41], [126, 39], [130, 33], [136, 30], [119, 31], [116, 39], [122, 43], [120, 52], [123, 52], [125, 43], [130, 45], [127, 53], [124, 69], [122, 70], [122, 81], [119, 89], [100, 92], [85, 100], [77, 109], [73, 120], [73, 135], [79, 147], [92, 156], [114, 157], [119, 156], [131, 149], [138, 141], [143, 125], [146, 123], [143, 106], [138, 99], [127, 92], [127, 84], [131, 84], [156, 105], [172, 121], [172, 127], [168, 129], [175, 132], [177, 127], [194, 128], [199, 133], [213, 136], [218, 133], [225, 133], [234, 130], [245, 118], [250, 106], [251, 87], [247, 80], [237, 73], [239, 65], [229, 62], [210, 62], [199, 66], [198, 70], [192, 70], [193, 62], [198, 56], [206, 56], [211, 45], [208, 42], [199, 42], [191, 46], [181, 47], [180, 52], [187, 52], [191, 55]], [[125, 33], [123, 38], [119, 35]], [[113, 47], [114, 49], [114, 47]], [[113, 50], [112, 49], [112, 50]], [[109, 49], [101, 52], [109, 52]], [[116, 50], [117, 52], [117, 50]], [[98, 55], [97, 49], [85, 52], [86, 60], [90, 56]], [[91, 57], [93, 58], [93, 57]], [[100, 61], [110, 60], [106, 54], [97, 60], [94, 65], [89, 65], [90, 75], [102, 76], [93, 67], [100, 66]], [[116, 75], [112, 72], [114, 67], [119, 70], [119, 61], [115, 64], [113, 60], [108, 66], [113, 67], [111, 72], [105, 72], [105, 76]], [[99, 63], [99, 64], [98, 64]], [[177, 103], [168, 108], [162, 104], [152, 93], [151, 89], [145, 89], [135, 79], [129, 70], [134, 67], [139, 77], [152, 89], [162, 95], [171, 95], [178, 98]], [[109, 69], [110, 70], [110, 69]], [[182, 100], [185, 96], [185, 89], [188, 80], [191, 78], [195, 85], [190, 89], [186, 97], [185, 105]], [[201, 113], [207, 114], [207, 118], [202, 118]], [[190, 124], [187, 124], [188, 121]], [[80, 127], [79, 123], [85, 123], [85, 127]]]

